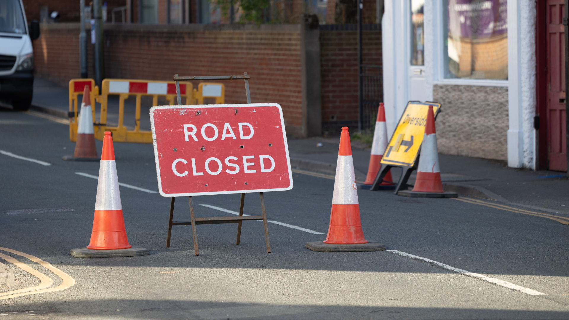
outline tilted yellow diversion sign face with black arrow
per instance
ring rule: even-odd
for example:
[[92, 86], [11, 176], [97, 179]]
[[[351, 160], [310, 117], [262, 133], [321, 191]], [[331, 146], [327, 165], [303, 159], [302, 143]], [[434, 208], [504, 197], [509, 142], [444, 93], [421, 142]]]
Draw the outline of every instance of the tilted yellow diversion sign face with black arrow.
[[399, 124], [391, 136], [387, 149], [385, 149], [384, 157], [381, 158], [382, 164], [395, 166], [413, 166], [415, 164], [419, 147], [423, 142], [429, 105], [432, 105], [436, 117], [440, 110], [440, 104], [435, 102], [407, 102], [405, 111], [399, 119]]

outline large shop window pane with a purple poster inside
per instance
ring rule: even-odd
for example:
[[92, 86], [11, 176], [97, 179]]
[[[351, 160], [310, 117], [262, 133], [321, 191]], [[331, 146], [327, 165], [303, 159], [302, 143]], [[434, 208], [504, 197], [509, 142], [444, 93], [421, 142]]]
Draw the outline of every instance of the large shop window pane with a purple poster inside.
[[507, 0], [443, 2], [445, 77], [507, 80]]

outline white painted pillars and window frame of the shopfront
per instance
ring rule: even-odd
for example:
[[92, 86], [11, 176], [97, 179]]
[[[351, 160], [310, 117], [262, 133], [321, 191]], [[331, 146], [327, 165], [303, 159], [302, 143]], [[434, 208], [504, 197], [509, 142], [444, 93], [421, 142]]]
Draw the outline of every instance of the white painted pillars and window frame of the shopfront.
[[[384, 102], [387, 132], [394, 126], [407, 104], [407, 65], [409, 0], [385, 0], [382, 20]], [[426, 1], [424, 6], [425, 69], [427, 95], [432, 100], [434, 84], [486, 85], [508, 87], [508, 166], [535, 170], [535, 2], [508, 0], [508, 79], [444, 79], [442, 0]], [[482, 98], [481, 98], [482, 99]], [[444, 106], [443, 106], [444, 110]]]

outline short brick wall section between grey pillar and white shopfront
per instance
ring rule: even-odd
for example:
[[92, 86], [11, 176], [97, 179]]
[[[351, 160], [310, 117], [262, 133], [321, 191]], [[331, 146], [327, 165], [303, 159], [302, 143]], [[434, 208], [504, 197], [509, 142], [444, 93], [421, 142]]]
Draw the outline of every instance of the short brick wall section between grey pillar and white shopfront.
[[[354, 24], [320, 26], [322, 125], [334, 133], [358, 121], [357, 31]], [[363, 63], [382, 65], [381, 28], [364, 25]]]

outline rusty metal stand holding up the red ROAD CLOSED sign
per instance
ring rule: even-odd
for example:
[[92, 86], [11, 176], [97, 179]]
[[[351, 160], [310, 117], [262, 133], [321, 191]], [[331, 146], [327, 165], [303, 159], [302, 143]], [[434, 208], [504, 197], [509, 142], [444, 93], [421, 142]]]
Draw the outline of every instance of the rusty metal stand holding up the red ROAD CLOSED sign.
[[[251, 103], [251, 96], [249, 95], [249, 76], [247, 72], [243, 73], [242, 76], [193, 76], [193, 77], [179, 77], [178, 73], [174, 75], [174, 80], [176, 81], [176, 95], [178, 96], [178, 105], [182, 105], [182, 98], [180, 97], [180, 80], [245, 80], [245, 91], [247, 95], [247, 103]], [[192, 196], [189, 196], [189, 221], [172, 221], [174, 219], [174, 200], [172, 197], [170, 200], [170, 220], [168, 220], [168, 237], [166, 240], [166, 248], [170, 248], [170, 236], [172, 235], [172, 225], [191, 225], [193, 234], [193, 249], [196, 256], [199, 256], [199, 249], [197, 248], [197, 224], [217, 224], [217, 223], [237, 223], [237, 241], [236, 244], [240, 243], [241, 239], [241, 223], [245, 220], [263, 220], [263, 225], [265, 227], [265, 241], [267, 244], [267, 253], [271, 253], [271, 244], [269, 241], [269, 228], [267, 225], [267, 213], [265, 210], [265, 197], [263, 192], [259, 192], [261, 197], [261, 216], [243, 216], [243, 206], [245, 204], [245, 194], [241, 194], [241, 204], [239, 207], [239, 216], [230, 217], [209, 217], [209, 218], [196, 218], [195, 211], [193, 209]]]

